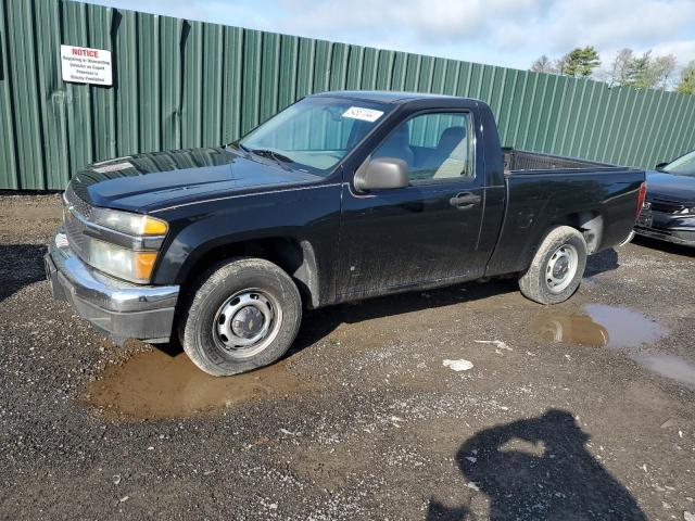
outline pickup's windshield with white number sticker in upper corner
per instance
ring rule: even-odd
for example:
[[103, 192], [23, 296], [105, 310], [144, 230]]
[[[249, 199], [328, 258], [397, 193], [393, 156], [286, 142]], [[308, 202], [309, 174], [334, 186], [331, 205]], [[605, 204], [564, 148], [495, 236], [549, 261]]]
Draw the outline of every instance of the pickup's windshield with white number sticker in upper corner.
[[300, 169], [327, 174], [388, 110], [389, 105], [361, 100], [304, 98], [236, 144]]

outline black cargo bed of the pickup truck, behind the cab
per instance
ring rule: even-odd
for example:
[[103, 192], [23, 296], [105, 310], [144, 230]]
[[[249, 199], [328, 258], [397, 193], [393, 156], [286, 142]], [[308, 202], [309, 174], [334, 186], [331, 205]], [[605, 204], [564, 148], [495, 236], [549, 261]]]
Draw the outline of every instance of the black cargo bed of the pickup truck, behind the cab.
[[503, 155], [505, 214], [488, 276], [523, 271], [549, 226], [582, 230], [590, 254], [630, 234], [644, 170], [513, 149]]

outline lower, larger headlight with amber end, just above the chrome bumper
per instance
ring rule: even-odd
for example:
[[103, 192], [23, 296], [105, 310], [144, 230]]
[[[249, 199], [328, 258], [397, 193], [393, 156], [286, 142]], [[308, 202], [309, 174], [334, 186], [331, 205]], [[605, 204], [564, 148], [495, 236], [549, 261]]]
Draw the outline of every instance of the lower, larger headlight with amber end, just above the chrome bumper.
[[150, 281], [157, 252], [137, 252], [99, 239], [88, 240], [88, 263], [100, 271], [131, 282]]

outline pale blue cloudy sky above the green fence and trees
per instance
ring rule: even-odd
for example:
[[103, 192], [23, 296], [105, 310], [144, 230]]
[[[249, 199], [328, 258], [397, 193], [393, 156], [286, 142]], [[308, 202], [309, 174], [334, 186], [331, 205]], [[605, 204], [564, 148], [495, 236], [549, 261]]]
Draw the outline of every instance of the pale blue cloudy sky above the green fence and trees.
[[695, 60], [695, 0], [89, 0], [122, 9], [529, 68], [594, 46]]

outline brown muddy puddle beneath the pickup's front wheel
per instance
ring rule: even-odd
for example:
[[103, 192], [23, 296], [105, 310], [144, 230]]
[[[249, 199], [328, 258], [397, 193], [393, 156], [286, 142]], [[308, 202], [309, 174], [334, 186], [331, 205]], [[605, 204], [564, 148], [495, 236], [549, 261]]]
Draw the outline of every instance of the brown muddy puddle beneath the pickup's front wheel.
[[109, 418], [180, 418], [251, 399], [291, 395], [306, 386], [280, 361], [233, 377], [211, 377], [186, 354], [141, 352], [108, 366], [80, 398]]

